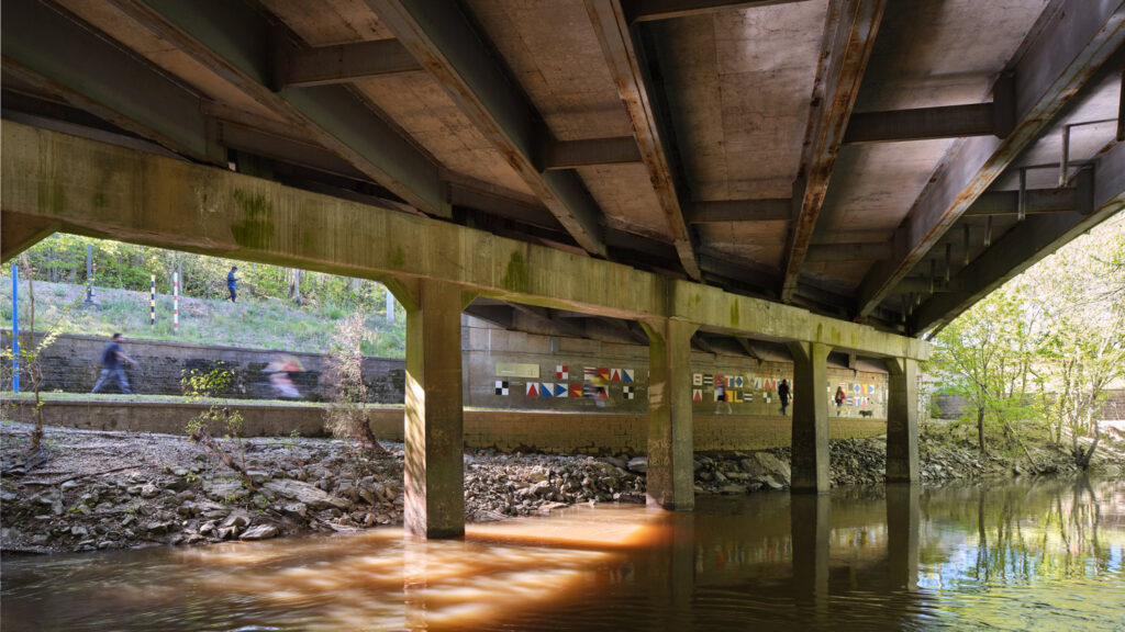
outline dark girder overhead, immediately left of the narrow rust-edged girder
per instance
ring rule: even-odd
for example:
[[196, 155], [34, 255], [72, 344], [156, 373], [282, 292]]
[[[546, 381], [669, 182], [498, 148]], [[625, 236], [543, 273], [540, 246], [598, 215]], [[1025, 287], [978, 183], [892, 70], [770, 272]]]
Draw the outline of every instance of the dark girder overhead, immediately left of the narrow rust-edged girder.
[[605, 256], [601, 209], [577, 173], [541, 171], [534, 164], [536, 147], [549, 143], [551, 134], [472, 20], [460, 8], [438, 0], [366, 2], [574, 240], [591, 254]]

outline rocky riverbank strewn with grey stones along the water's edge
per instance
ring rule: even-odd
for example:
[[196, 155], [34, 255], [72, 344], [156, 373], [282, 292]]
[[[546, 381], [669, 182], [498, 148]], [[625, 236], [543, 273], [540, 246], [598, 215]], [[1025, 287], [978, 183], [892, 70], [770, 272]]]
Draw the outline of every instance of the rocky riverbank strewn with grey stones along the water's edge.
[[[45, 428], [47, 460], [22, 472], [32, 426], [6, 423], [2, 532], [6, 553], [51, 553], [148, 545], [198, 545], [309, 532], [402, 524], [403, 446], [363, 455], [342, 441], [253, 437], [223, 441], [245, 479], [183, 435]], [[926, 439], [924, 482], [1077, 471], [1061, 452], [1035, 464]], [[1120, 476], [1105, 453], [1096, 467]], [[832, 442], [834, 486], [883, 480], [882, 437]], [[644, 458], [554, 454], [465, 455], [469, 522], [549, 513], [577, 503], [644, 503]], [[698, 453], [695, 493], [738, 495], [785, 489], [789, 450]]]

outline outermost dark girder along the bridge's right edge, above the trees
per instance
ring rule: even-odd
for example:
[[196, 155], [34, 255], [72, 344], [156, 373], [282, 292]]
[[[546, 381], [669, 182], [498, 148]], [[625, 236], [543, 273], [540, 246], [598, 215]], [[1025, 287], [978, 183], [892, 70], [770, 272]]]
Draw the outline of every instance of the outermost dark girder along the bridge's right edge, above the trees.
[[914, 331], [935, 332], [1009, 279], [1054, 253], [1125, 207], [1125, 143], [1116, 143], [1076, 178], [1070, 213], [1027, 217], [951, 279], [952, 291], [915, 310]]

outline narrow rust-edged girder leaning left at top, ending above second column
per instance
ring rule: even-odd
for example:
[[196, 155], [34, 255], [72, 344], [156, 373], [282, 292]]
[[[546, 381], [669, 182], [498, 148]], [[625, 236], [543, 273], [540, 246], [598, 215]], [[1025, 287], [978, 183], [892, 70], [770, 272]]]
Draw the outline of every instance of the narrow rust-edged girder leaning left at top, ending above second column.
[[663, 125], [660, 96], [648, 87], [649, 69], [644, 45], [634, 40], [621, 0], [586, 0], [586, 12], [629, 114], [641, 160], [664, 211], [680, 262], [687, 276], [699, 281], [703, 273], [681, 205], [681, 199], [685, 197], [682, 195], [684, 187], [677, 181], [677, 168], [672, 161], [674, 154], [665, 147], [673, 135]]

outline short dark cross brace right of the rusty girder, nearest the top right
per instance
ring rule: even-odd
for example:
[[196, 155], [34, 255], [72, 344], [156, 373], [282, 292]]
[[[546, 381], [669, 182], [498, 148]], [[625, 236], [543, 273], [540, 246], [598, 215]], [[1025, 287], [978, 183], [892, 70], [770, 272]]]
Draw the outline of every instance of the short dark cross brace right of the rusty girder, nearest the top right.
[[855, 112], [847, 124], [844, 143], [889, 143], [999, 136], [992, 103], [945, 106], [882, 112]]

